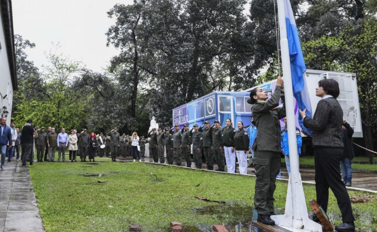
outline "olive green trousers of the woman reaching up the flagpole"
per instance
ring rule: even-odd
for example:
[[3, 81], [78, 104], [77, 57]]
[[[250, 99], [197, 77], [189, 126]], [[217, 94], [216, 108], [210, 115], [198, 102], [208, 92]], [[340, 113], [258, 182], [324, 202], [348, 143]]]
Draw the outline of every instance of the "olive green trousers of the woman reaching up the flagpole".
[[255, 168], [254, 206], [259, 214], [274, 212], [276, 176], [280, 171], [280, 152], [254, 151]]

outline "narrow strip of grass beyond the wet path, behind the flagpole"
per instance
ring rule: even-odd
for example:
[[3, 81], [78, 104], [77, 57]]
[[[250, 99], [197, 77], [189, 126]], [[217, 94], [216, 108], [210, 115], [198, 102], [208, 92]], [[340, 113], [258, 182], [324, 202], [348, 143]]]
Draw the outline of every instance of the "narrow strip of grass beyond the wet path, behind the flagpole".
[[[367, 171], [377, 171], [377, 158], [374, 159], [376, 164], [365, 164], [369, 161], [368, 157], [355, 157], [352, 159], [352, 168]], [[282, 158], [281, 162], [285, 164], [285, 159]], [[362, 164], [360, 164], [362, 162]], [[314, 168], [314, 156], [302, 156], [300, 157], [300, 167], [302, 168]]]

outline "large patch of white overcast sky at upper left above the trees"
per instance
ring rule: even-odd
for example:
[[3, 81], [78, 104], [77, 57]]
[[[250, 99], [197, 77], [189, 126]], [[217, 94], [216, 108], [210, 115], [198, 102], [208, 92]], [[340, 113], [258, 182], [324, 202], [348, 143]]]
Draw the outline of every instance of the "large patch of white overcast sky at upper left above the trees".
[[[44, 52], [60, 43], [58, 52], [83, 62], [87, 68], [102, 71], [117, 50], [106, 47], [107, 29], [114, 20], [107, 17], [116, 3], [132, 0], [14, 0], [14, 33], [35, 43], [26, 50], [29, 60], [41, 69]], [[41, 70], [42, 71], [42, 70]]]

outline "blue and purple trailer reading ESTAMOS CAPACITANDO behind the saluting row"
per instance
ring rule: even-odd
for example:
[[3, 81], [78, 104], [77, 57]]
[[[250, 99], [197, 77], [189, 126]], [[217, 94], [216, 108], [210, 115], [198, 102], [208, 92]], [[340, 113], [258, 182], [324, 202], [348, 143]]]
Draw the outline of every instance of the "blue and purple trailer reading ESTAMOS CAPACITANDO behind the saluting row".
[[200, 127], [205, 121], [213, 124], [218, 120], [224, 127], [225, 121], [230, 118], [234, 126], [237, 121], [242, 121], [248, 127], [251, 123], [251, 105], [247, 103], [249, 98], [248, 92], [212, 92], [174, 108], [173, 126], [179, 124], [182, 128], [184, 124], [189, 124], [192, 127], [196, 123]]

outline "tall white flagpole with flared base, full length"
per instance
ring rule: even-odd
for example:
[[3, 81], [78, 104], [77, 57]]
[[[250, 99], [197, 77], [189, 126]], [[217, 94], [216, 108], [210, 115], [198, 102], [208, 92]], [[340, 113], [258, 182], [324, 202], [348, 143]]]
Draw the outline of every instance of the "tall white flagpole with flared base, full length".
[[285, 0], [277, 0], [279, 15], [280, 49], [284, 77], [285, 109], [287, 115], [287, 133], [291, 173], [288, 181], [287, 199], [284, 215], [273, 215], [271, 218], [279, 226], [292, 231], [322, 231], [322, 226], [308, 218], [305, 196], [299, 170], [297, 154], [296, 123], [294, 118], [294, 99], [291, 78], [291, 64], [285, 23]]

